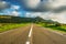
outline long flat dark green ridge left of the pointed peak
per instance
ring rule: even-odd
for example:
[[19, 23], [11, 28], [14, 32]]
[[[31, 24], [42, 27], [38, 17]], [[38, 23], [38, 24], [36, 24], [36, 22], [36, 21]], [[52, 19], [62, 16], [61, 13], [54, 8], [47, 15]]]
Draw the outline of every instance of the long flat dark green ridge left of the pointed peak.
[[12, 15], [0, 15], [0, 23], [26, 23], [32, 22], [33, 18], [20, 18]]

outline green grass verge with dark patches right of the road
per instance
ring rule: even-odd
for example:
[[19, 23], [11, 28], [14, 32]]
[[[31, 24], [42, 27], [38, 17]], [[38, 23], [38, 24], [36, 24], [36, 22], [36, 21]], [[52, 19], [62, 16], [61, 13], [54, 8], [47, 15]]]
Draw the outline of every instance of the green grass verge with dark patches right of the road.
[[44, 28], [50, 28], [51, 30], [66, 33], [66, 25], [56, 26], [56, 25], [51, 25], [51, 24], [46, 24], [46, 23], [40, 23], [37, 25], [41, 25]]

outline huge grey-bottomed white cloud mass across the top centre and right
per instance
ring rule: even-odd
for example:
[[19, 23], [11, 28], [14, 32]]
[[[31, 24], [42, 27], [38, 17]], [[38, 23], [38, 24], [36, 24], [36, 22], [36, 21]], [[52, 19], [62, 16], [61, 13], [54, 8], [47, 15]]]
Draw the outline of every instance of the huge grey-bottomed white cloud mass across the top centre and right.
[[66, 0], [22, 0], [22, 7], [26, 11], [48, 12], [66, 11]]

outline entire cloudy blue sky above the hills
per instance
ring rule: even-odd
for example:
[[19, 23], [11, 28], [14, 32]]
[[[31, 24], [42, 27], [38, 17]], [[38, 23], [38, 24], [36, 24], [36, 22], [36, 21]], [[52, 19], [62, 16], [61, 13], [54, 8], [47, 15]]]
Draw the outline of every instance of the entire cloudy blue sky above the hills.
[[66, 24], [66, 0], [0, 0], [0, 14], [41, 16]]

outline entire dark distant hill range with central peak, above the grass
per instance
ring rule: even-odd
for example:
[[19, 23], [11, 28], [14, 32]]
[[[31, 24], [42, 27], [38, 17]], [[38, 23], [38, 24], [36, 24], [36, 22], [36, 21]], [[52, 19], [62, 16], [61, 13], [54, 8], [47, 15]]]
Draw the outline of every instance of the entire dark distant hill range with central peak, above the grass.
[[36, 18], [21, 18], [21, 16], [12, 16], [12, 15], [0, 15], [0, 23], [26, 23], [26, 22], [33, 22], [33, 23], [56, 23], [52, 20], [44, 20], [40, 16]]

